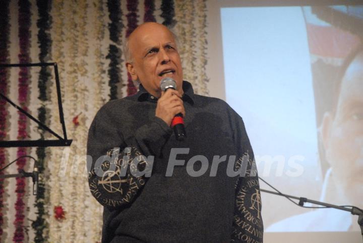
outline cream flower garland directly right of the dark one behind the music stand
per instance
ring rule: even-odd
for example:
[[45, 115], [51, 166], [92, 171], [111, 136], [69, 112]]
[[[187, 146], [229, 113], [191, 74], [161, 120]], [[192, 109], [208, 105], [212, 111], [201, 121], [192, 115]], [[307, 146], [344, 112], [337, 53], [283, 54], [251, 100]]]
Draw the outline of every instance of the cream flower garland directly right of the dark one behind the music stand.
[[[65, 77], [65, 53], [64, 53], [64, 24], [65, 24], [65, 16], [63, 13], [65, 12], [64, 9], [64, 1], [57, 0], [52, 1], [52, 9], [51, 9], [51, 17], [52, 17], [52, 28], [51, 28], [51, 36], [52, 36], [52, 45], [51, 45], [51, 55], [53, 57], [53, 60], [57, 62], [58, 70], [59, 70], [59, 79], [60, 80], [66, 80]], [[54, 77], [53, 77], [54, 80]], [[61, 82], [61, 89], [64, 90], [64, 82]], [[58, 109], [57, 105], [57, 94], [56, 94], [56, 87], [55, 83], [53, 82], [53, 85], [50, 89], [50, 102], [52, 105], [53, 111], [56, 111]], [[59, 126], [59, 119], [58, 117], [51, 116], [50, 117], [50, 127], [54, 129], [56, 133], [62, 133], [62, 130]], [[59, 205], [65, 198], [62, 191], [61, 191], [61, 182], [59, 180], [62, 179], [62, 177], [59, 177], [57, 173], [61, 171], [62, 164], [59, 163], [59, 159], [62, 158], [63, 155], [62, 148], [56, 148], [53, 147], [51, 149], [51, 154], [49, 161], [50, 163], [47, 164], [48, 171], [51, 172], [51, 175], [49, 177], [48, 181], [48, 191], [49, 193], [49, 202], [46, 202], [47, 210], [47, 223], [49, 225], [48, 228], [48, 241], [49, 242], [59, 242], [61, 241], [61, 235], [62, 235], [62, 222], [63, 219], [56, 219], [54, 217], [54, 207], [55, 206], [62, 206]]]

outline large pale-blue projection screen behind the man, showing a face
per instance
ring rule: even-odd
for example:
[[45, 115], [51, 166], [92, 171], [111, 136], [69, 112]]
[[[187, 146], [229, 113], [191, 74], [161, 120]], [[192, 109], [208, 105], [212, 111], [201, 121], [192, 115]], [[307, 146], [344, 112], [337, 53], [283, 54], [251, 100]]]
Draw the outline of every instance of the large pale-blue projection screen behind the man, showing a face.
[[[363, 208], [363, 6], [233, 3], [219, 3], [225, 93], [215, 94], [243, 117], [259, 176], [289, 195]], [[266, 233], [361, 242], [349, 212], [266, 193], [262, 203]]]

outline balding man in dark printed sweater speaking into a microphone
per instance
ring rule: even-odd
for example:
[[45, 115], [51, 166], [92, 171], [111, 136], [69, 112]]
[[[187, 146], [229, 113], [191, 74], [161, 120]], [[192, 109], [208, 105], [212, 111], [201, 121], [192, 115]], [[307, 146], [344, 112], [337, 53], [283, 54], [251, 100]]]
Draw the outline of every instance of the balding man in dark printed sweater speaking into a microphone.
[[[183, 81], [165, 26], [140, 25], [125, 49], [140, 91], [104, 105], [88, 134], [102, 242], [262, 242], [259, 182], [242, 119]], [[161, 80], [174, 84], [160, 88]], [[181, 137], [175, 124], [185, 129]]]

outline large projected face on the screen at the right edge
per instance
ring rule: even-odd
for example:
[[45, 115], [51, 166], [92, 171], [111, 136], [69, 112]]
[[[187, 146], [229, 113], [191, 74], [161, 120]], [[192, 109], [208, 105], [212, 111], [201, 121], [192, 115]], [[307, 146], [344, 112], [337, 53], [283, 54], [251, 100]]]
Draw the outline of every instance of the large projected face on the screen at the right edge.
[[326, 114], [323, 140], [332, 177], [350, 204], [363, 207], [363, 51], [342, 78], [335, 114]]

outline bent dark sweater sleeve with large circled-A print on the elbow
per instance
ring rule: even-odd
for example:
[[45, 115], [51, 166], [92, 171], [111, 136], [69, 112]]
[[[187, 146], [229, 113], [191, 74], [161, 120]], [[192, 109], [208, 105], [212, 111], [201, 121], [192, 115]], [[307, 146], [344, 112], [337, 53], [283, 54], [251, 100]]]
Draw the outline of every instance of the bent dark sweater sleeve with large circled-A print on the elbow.
[[[110, 209], [130, 204], [151, 176], [154, 156], [172, 130], [158, 117], [134, 134], [120, 131], [110, 109], [101, 108], [88, 132], [87, 168], [92, 195]], [[119, 118], [125, 122], [125, 118]]]

